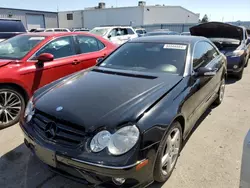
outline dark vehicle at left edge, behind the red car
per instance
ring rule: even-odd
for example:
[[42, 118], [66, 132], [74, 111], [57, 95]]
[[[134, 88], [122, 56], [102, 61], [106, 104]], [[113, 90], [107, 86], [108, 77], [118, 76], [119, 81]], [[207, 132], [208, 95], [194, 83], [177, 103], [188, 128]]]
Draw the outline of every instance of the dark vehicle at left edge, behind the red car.
[[0, 42], [22, 33], [26, 29], [21, 20], [0, 18]]

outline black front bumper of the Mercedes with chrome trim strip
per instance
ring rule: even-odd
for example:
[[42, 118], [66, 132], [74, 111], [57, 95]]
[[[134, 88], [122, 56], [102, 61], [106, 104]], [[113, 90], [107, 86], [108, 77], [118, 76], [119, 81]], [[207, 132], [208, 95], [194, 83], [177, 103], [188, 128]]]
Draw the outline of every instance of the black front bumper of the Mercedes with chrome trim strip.
[[[106, 166], [62, 155], [43, 146], [21, 125], [24, 143], [53, 171], [84, 184], [98, 187], [145, 187], [153, 182], [153, 161], [143, 159], [126, 166]], [[145, 165], [145, 166], [144, 166]], [[138, 168], [140, 167], [140, 168]], [[125, 178], [122, 185], [114, 183], [113, 178]]]

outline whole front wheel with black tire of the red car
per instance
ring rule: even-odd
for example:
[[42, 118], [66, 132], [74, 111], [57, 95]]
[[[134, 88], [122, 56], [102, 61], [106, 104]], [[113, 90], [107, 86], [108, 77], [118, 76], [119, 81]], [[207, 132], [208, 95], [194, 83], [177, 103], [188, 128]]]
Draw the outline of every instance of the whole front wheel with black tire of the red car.
[[15, 88], [0, 89], [0, 130], [12, 126], [19, 121], [24, 111], [25, 101]]

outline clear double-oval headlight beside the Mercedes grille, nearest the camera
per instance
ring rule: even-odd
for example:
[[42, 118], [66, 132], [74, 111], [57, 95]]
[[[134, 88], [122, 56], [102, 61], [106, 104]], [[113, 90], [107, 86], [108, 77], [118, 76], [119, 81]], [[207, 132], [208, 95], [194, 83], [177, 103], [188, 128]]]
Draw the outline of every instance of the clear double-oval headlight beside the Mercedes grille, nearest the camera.
[[100, 152], [107, 147], [112, 155], [122, 155], [135, 146], [139, 135], [140, 132], [135, 125], [123, 127], [113, 135], [108, 131], [101, 131], [91, 140], [90, 149]]

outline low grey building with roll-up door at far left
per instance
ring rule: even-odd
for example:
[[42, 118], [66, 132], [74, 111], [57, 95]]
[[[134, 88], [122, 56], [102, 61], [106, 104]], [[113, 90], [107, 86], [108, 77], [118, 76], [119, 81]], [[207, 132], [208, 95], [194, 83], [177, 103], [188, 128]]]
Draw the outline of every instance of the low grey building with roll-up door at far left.
[[57, 12], [0, 7], [0, 18], [21, 20], [26, 29], [58, 27]]

